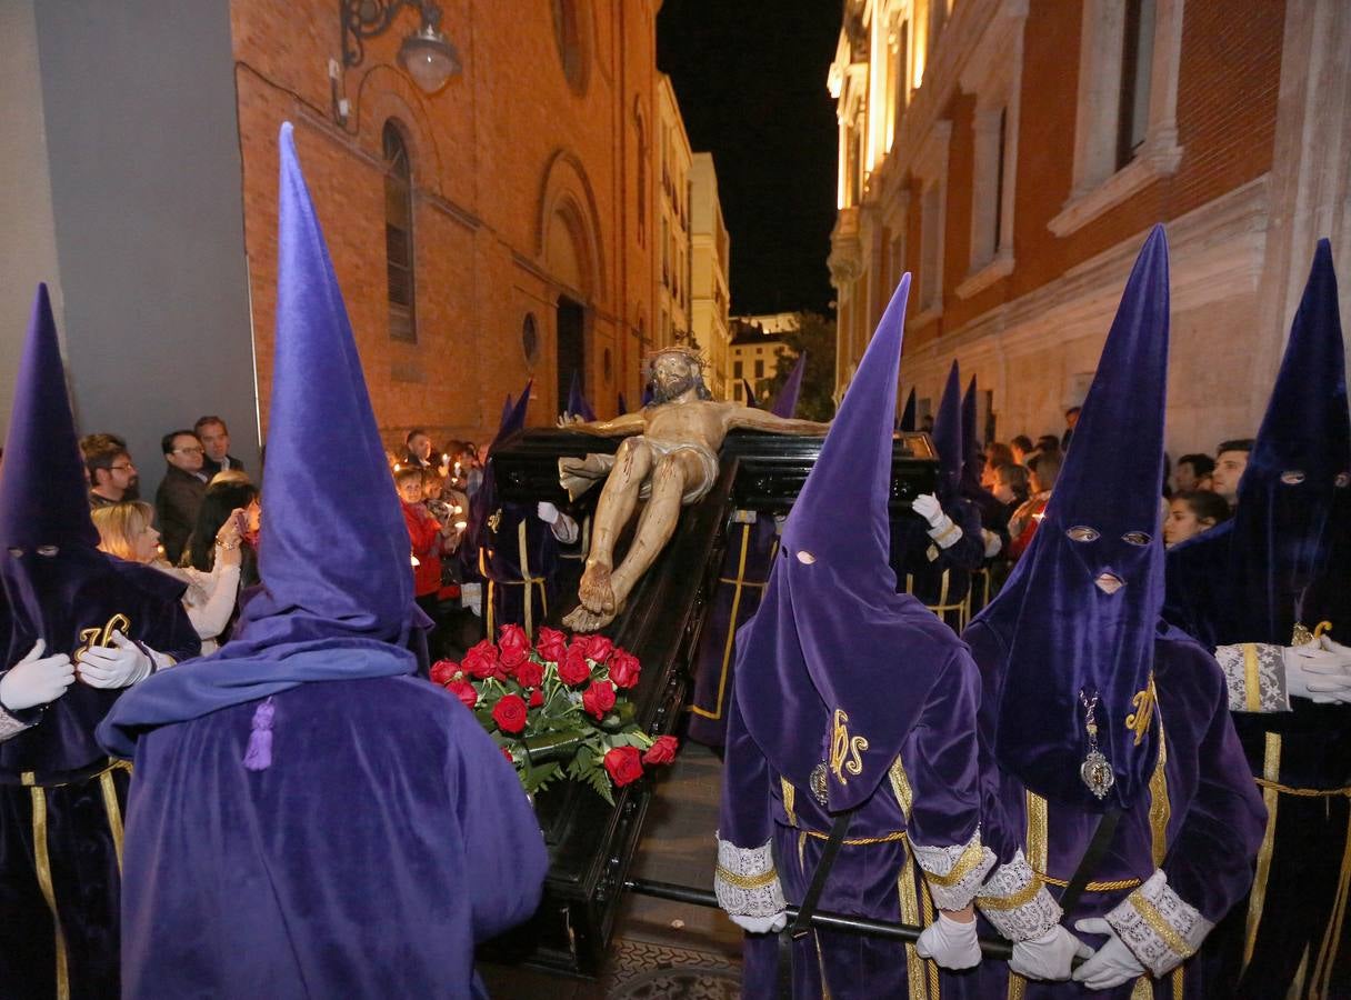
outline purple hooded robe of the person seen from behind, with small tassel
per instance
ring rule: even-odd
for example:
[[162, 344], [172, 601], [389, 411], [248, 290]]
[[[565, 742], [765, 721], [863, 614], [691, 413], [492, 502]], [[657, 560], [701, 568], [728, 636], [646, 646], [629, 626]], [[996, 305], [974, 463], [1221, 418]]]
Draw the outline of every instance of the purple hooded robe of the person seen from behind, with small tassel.
[[[408, 535], [289, 123], [280, 145], [263, 589], [99, 730], [136, 764], [123, 997], [474, 996], [543, 838], [473, 715], [411, 676]], [[351, 455], [340, 488], [316, 446]]]

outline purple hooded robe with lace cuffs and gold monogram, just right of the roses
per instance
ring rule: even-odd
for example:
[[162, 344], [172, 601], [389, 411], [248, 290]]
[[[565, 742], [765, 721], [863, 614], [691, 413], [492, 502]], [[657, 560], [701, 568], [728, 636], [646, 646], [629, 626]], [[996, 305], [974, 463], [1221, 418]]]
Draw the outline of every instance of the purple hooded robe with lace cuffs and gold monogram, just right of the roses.
[[[842, 811], [851, 826], [821, 909], [927, 923], [934, 905], [965, 907], [993, 864], [979, 831], [974, 664], [947, 626], [896, 593], [888, 566], [908, 291], [907, 274], [738, 634], [715, 876], [731, 914], [800, 901]], [[842, 497], [858, 516], [838, 516]], [[797, 997], [904, 996], [934, 976], [912, 947], [857, 935], [813, 931], [792, 951]], [[774, 936], [748, 934], [743, 954], [744, 996], [773, 996]]]

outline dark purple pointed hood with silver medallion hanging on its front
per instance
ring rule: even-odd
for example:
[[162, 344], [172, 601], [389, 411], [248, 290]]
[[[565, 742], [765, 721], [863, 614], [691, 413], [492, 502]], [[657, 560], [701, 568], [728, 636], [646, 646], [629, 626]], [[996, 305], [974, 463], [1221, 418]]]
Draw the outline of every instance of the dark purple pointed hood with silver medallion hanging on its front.
[[[1158, 751], [1143, 705], [1163, 605], [1159, 484], [1169, 358], [1163, 227], [1140, 250], [1108, 332], [1046, 516], [975, 622], [1008, 650], [993, 677], [994, 751], [1029, 789], [1077, 808], [1129, 807]], [[988, 677], [988, 681], [992, 678]], [[1081, 696], [1098, 696], [1098, 749], [1115, 776], [1098, 799]]]

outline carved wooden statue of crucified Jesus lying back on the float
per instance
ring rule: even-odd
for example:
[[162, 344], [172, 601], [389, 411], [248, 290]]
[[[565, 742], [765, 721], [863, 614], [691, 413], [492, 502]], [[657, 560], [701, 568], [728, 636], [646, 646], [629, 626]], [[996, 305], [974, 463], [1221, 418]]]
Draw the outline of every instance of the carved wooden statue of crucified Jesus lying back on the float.
[[[577, 588], [581, 604], [563, 624], [589, 632], [609, 624], [634, 585], [670, 541], [680, 508], [697, 503], [717, 481], [717, 450], [735, 427], [774, 434], [825, 434], [827, 423], [785, 420], [763, 409], [716, 403], [704, 385], [698, 357], [684, 349], [658, 351], [651, 364], [653, 403], [613, 420], [570, 423], [569, 430], [597, 436], [624, 435], [613, 455], [586, 455], [559, 461], [563, 486], [608, 470], [596, 505], [592, 546]], [[615, 542], [634, 515], [639, 499], [647, 505], [638, 520], [624, 561], [615, 568]]]

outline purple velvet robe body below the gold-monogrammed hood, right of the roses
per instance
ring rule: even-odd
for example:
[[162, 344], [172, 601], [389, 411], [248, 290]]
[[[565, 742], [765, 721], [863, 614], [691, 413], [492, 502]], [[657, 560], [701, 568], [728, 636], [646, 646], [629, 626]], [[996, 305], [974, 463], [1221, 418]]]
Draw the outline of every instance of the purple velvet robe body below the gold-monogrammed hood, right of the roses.
[[[820, 908], [923, 926], [936, 919], [936, 912], [932, 904], [925, 907], [923, 876], [913, 865], [909, 843], [966, 843], [979, 823], [975, 739], [979, 678], [970, 655], [952, 639], [951, 631], [925, 608], [905, 600], [911, 607], [905, 620], [915, 626], [913, 639], [917, 643], [924, 642], [928, 628], [942, 630], [948, 638], [948, 654], [935, 665], [938, 676], [928, 699], [898, 747], [897, 757], [913, 805], [901, 805], [893, 781], [884, 781], [859, 805], [850, 823], [848, 841], [878, 842], [840, 847], [825, 881]], [[894, 650], [880, 659], [900, 678], [908, 670], [902, 657], [904, 653]], [[747, 731], [739, 711], [742, 697], [746, 692], [738, 685], [727, 728], [719, 836], [743, 847], [773, 842], [784, 895], [790, 904], [797, 904], [816, 872], [834, 816], [821, 808], [804, 784], [789, 781], [792, 801], [785, 800], [784, 781], [788, 778], [766, 759], [759, 743]], [[770, 697], [777, 697], [777, 693], [762, 695], [762, 699]], [[792, 699], [793, 692], [786, 692], [785, 697]], [[894, 703], [896, 699], [878, 700]], [[907, 841], [896, 838], [902, 831]], [[904, 886], [913, 889], [907, 893]], [[774, 935], [747, 934], [742, 954], [743, 995], [757, 999], [775, 996], [778, 939]], [[830, 995], [839, 1000], [907, 996], [909, 978], [929, 974], [929, 966], [915, 955], [912, 947], [897, 942], [816, 931], [793, 947], [794, 996], [821, 996], [819, 984], [823, 978]]]

